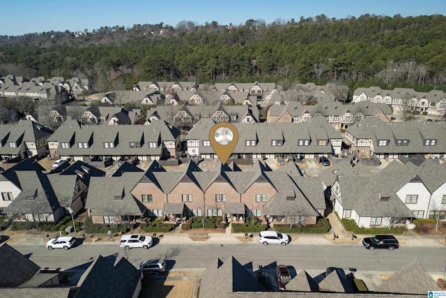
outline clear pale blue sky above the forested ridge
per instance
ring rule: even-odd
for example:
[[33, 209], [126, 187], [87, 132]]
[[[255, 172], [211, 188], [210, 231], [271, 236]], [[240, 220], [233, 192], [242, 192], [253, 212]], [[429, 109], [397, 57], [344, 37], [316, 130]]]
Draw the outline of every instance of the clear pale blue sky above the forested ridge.
[[445, 0], [0, 0], [0, 36], [182, 21], [239, 25], [300, 17], [446, 15]]

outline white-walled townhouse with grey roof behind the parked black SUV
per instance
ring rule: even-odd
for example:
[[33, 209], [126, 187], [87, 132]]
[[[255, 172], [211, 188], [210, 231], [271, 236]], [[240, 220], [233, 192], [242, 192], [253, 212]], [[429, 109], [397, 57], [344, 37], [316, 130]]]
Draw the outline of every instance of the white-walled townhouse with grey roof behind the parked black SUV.
[[353, 219], [360, 228], [389, 227], [411, 218], [445, 219], [445, 165], [392, 161], [371, 174], [361, 163], [339, 164], [321, 177], [340, 218]]

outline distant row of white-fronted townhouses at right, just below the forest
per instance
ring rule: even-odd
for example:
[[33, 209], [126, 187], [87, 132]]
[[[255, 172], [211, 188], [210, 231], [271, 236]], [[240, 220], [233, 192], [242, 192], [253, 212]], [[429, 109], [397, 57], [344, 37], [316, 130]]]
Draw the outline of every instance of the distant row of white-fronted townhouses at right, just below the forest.
[[417, 92], [410, 88], [383, 90], [380, 87], [357, 88], [353, 92], [353, 103], [371, 101], [392, 106], [394, 111], [406, 109], [425, 112], [435, 116], [444, 116], [446, 110], [446, 94], [441, 90]]

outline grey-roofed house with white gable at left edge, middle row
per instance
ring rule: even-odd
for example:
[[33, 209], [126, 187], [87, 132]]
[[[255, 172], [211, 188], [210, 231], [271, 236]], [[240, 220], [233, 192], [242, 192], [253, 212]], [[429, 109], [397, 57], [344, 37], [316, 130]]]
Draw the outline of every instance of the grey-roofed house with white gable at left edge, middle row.
[[0, 126], [0, 156], [22, 160], [47, 153], [47, 140], [54, 131], [34, 121], [20, 120], [17, 124]]

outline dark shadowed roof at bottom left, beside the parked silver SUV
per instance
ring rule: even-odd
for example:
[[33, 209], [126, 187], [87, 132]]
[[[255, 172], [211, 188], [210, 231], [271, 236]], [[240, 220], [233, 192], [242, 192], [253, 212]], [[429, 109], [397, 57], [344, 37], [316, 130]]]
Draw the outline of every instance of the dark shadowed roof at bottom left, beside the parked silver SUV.
[[77, 298], [131, 298], [141, 280], [141, 271], [121, 258], [115, 266], [99, 255], [82, 275], [77, 286]]

